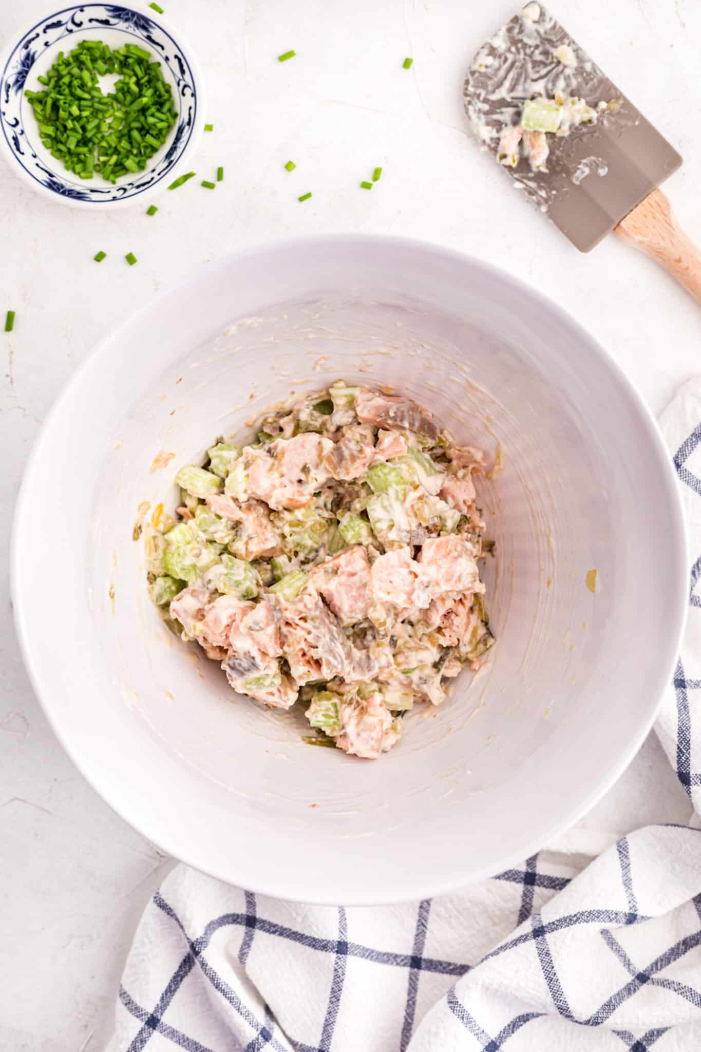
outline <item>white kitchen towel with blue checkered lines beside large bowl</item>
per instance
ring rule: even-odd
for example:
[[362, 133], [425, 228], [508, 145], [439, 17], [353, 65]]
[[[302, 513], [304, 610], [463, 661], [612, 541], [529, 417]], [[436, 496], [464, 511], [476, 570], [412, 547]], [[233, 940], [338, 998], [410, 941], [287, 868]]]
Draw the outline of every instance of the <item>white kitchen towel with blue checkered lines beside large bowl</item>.
[[[696, 561], [657, 732], [701, 813], [701, 379], [661, 423]], [[139, 926], [109, 1052], [701, 1049], [701, 830], [599, 850], [571, 833], [458, 894], [347, 910], [179, 866]]]

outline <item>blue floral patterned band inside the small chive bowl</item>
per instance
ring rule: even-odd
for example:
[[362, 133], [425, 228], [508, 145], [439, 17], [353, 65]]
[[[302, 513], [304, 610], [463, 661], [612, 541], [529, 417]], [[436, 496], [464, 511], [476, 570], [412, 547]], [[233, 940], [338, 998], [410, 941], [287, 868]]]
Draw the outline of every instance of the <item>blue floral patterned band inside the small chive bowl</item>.
[[[115, 185], [95, 184], [77, 179], [74, 173], [51, 158], [39, 145], [39, 129], [32, 107], [24, 98], [24, 87], [35, 62], [61, 41], [67, 50], [89, 31], [109, 31], [105, 42], [110, 46], [141, 43], [153, 52], [163, 64], [163, 75], [170, 83], [173, 106], [178, 112], [174, 132], [164, 150], [151, 161], [151, 167]], [[118, 39], [123, 37], [123, 39]], [[95, 38], [95, 32], [90, 36]], [[51, 53], [49, 53], [50, 57]], [[195, 77], [183, 48], [171, 35], [141, 12], [119, 4], [85, 3], [64, 7], [33, 25], [8, 53], [0, 69], [0, 126], [9, 153], [39, 187], [64, 200], [89, 203], [126, 201], [152, 189], [182, 158], [198, 120]], [[35, 145], [36, 144], [36, 145]]]

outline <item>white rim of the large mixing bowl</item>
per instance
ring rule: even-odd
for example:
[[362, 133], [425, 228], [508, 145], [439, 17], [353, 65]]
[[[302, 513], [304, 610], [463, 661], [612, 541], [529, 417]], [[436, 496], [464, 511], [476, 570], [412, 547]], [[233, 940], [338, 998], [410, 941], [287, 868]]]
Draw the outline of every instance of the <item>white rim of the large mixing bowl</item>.
[[[429, 255], [434, 254], [441, 256], [444, 259], [449, 261], [452, 260], [457, 265], [468, 264], [468, 266], [480, 268], [502, 282], [507, 288], [511, 286], [521, 295], [525, 294], [527, 296], [539, 301], [541, 306], [547, 308], [547, 310], [549, 310], [552, 315], [558, 317], [560, 321], [569, 325], [572, 331], [582, 341], [583, 344], [589, 347], [590, 351], [595, 357], [598, 357], [603, 366], [609, 368], [614, 376], [616, 376], [634, 405], [640, 410], [641, 417], [647, 425], [647, 436], [651, 441], [651, 445], [659, 457], [661, 481], [664, 482], [666, 487], [666, 491], [661, 499], [667, 502], [667, 506], [674, 521], [674, 535], [669, 539], [668, 550], [674, 557], [671, 572], [673, 572], [673, 576], [675, 578], [676, 602], [674, 612], [668, 621], [671, 628], [667, 635], [667, 643], [663, 648], [661, 648], [661, 654], [659, 658], [659, 673], [655, 677], [654, 684], [650, 689], [646, 710], [643, 715], [640, 715], [639, 727], [636, 733], [630, 736], [625, 747], [621, 749], [618, 761], [613, 764], [609, 770], [603, 771], [600, 774], [584, 797], [582, 797], [577, 804], [573, 804], [559, 822], [551, 826], [548, 826], [548, 823], [543, 822], [541, 833], [537, 835], [534, 833], [530, 838], [524, 841], [523, 844], [519, 844], [517, 847], [504, 847], [503, 851], [500, 852], [498, 856], [495, 856], [492, 864], [483, 866], [473, 872], [469, 882], [456, 883], [454, 878], [442, 878], [440, 875], [437, 875], [430, 888], [417, 888], [413, 886], [411, 873], [408, 871], [406, 886], [397, 895], [393, 895], [392, 897], [373, 898], [372, 896], [368, 897], [360, 894], [356, 897], [346, 898], [343, 903], [345, 906], [379, 906], [391, 905], [393, 903], [415, 902], [419, 898], [433, 897], [435, 895], [452, 894], [458, 891], [461, 887], [472, 886], [480, 881], [503, 872], [507, 869], [513, 868], [514, 866], [522, 863], [524, 858], [530, 857], [531, 855], [542, 850], [547, 844], [554, 842], [562, 833], [566, 832], [568, 829], [575, 826], [577, 822], [579, 822], [579, 820], [583, 817], [583, 815], [586, 814], [586, 812], [590, 811], [604, 795], [604, 793], [607, 792], [614, 783], [618, 781], [652, 730], [662, 704], [664, 690], [672, 684], [674, 669], [678, 660], [682, 635], [686, 624], [689, 562], [683, 504], [681, 493], [679, 491], [678, 481], [673, 467], [672, 456], [666, 448], [659, 425], [650, 407], [643, 401], [637, 388], [628, 379], [622, 367], [613, 358], [611, 352], [599, 344], [598, 341], [595, 340], [594, 337], [592, 337], [587, 330], [566, 310], [560, 307], [549, 297], [544, 296], [538, 289], [532, 288], [527, 282], [521, 281], [521, 279], [509, 274], [509, 271], [503, 270], [501, 267], [487, 263], [475, 256], [470, 256], [467, 252], [461, 252], [457, 249], [449, 248], [437, 243], [390, 235], [352, 232], [275, 239], [273, 241], [259, 243], [252, 247], [242, 249], [236, 252], [230, 252], [226, 257], [223, 257], [217, 264], [214, 264], [214, 272], [219, 270], [226, 270], [232, 260], [245, 261], [259, 256], [268, 256], [281, 249], [289, 250], [294, 248], [304, 249], [307, 247], [326, 247], [329, 249], [339, 250], [349, 245], [366, 245], [369, 248], [373, 245], [378, 247], [393, 246], [394, 248], [404, 249], [406, 251], [419, 251]], [[123, 322], [116, 331], [105, 335], [99, 341], [95, 350], [88, 355], [86, 360], [81, 363], [74, 376], [66, 382], [56, 402], [51, 406], [39, 434], [37, 436], [23, 472], [11, 538], [11, 595], [13, 596], [15, 625], [20, 651], [35, 694], [51, 729], [54, 730], [54, 733], [67, 752], [68, 756], [71, 758], [81, 774], [86, 777], [86, 781], [89, 782], [96, 792], [105, 801], [105, 803], [117, 814], [124, 818], [124, 821], [127, 822], [133, 829], [136, 829], [137, 832], [177, 861], [183, 862], [193, 869], [220, 879], [225, 884], [252, 888], [256, 893], [269, 895], [271, 897], [285, 898], [301, 903], [314, 903], [315, 905], [335, 906], [338, 905], [338, 902], [333, 896], [332, 890], [322, 894], [314, 893], [313, 898], [311, 896], [289, 895], [285, 890], [284, 875], [280, 879], [273, 877], [271, 881], [266, 882], [261, 881], [260, 874], [256, 873], [255, 878], [252, 882], [249, 881], [247, 878], [245, 852], [242, 852], [236, 862], [236, 865], [240, 866], [240, 873], [236, 874], [233, 879], [229, 873], [214, 871], [213, 869], [203, 867], [195, 858], [190, 857], [187, 843], [166, 844], [160, 839], [157, 829], [150, 828], [147, 823], [142, 824], [138, 816], [126, 815], [122, 811], [119, 800], [115, 798], [115, 794], [103, 791], [101, 787], [96, 784], [94, 778], [88, 778], [87, 775], [85, 775], [79, 751], [74, 750], [69, 735], [64, 734], [61, 728], [60, 707], [54, 707], [50, 696], [50, 684], [40, 682], [39, 676], [33, 669], [32, 665], [32, 635], [27, 631], [27, 610], [22, 602], [22, 568], [25, 559], [29, 554], [28, 552], [25, 553], [22, 551], [22, 522], [25, 517], [32, 513], [32, 509], [29, 507], [32, 476], [41, 460], [44, 448], [50, 446], [50, 431], [54, 420], [61, 414], [64, 410], [64, 406], [69, 403], [70, 388], [74, 383], [78, 382], [79, 378], [82, 377], [83, 373], [98, 365], [101, 361], [104, 360], [107, 362], [110, 360], [109, 344], [120, 335], [121, 331], [132, 325], [138, 319], [147, 315], [154, 306], [161, 305], [168, 298], [172, 297], [173, 300], [177, 300], [181, 289], [186, 288], [193, 282], [198, 281], [207, 281], [208, 283], [212, 281], [211, 265], [206, 268], [206, 272], [205, 270], [201, 270], [194, 278], [190, 276], [189, 278], [179, 282], [172, 288], [161, 294], [156, 299], [149, 300], [147, 304], [135, 311], [135, 313]]]

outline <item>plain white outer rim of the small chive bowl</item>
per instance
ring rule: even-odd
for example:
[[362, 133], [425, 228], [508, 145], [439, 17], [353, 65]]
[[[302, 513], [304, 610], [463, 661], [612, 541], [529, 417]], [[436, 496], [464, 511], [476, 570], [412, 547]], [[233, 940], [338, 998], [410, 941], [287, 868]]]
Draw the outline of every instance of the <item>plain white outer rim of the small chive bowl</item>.
[[[28, 28], [21, 29], [20, 27], [24, 25], [23, 22], [15, 20], [13, 28], [7, 36], [6, 45], [0, 50], [0, 72], [5, 68], [9, 56], [15, 52], [17, 47], [17, 41], [21, 40], [27, 34], [32, 33], [33, 28], [46, 22], [48, 19], [53, 18], [55, 15], [63, 15], [66, 12], [75, 11], [76, 8], [90, 7], [90, 6], [103, 6], [102, 3], [98, 3], [98, 0], [86, 0], [85, 3], [78, 3], [77, 0], [74, 3], [66, 4], [50, 14], [44, 15], [38, 21], [36, 21]], [[163, 173], [160, 179], [158, 179], [152, 185], [144, 187], [139, 194], [133, 194], [129, 197], [123, 197], [118, 199], [112, 199], [111, 201], [86, 201], [82, 198], [73, 198], [65, 195], [59, 194], [56, 190], [49, 189], [49, 187], [44, 186], [39, 182], [34, 176], [32, 176], [22, 164], [17, 161], [17, 155], [11, 148], [7, 138], [4, 134], [0, 134], [0, 151], [3, 153], [5, 161], [15, 175], [21, 179], [25, 185], [30, 186], [35, 194], [39, 194], [40, 197], [44, 198], [46, 201], [53, 201], [54, 204], [67, 205], [69, 208], [81, 208], [89, 205], [91, 211], [110, 211], [115, 208], [128, 208], [129, 206], [135, 207], [136, 205], [143, 203], [143, 194], [161, 194], [166, 189], [166, 184], [164, 184], [164, 178], [168, 177], [168, 183], [172, 182], [179, 177], [183, 171], [186, 164], [189, 164], [190, 158], [195, 153], [200, 143], [202, 141], [202, 135], [204, 132], [204, 126], [206, 123], [206, 107], [207, 107], [207, 97], [204, 87], [204, 79], [202, 75], [202, 69], [197, 56], [192, 52], [189, 41], [183, 37], [179, 29], [173, 29], [172, 23], [168, 18], [161, 15], [159, 12], [149, 8], [146, 4], [136, 3], [135, 0], [127, 0], [126, 3], [115, 4], [117, 7], [124, 7], [126, 11], [133, 11], [137, 14], [144, 15], [151, 22], [154, 22], [159, 28], [162, 28], [167, 36], [170, 37], [172, 42], [178, 45], [179, 50], [187, 57], [187, 64], [190, 67], [192, 74], [192, 81], [195, 85], [197, 90], [197, 109], [195, 119], [193, 122], [193, 127], [190, 132], [188, 141], [185, 147], [178, 158], [178, 160], [168, 168], [167, 173]], [[173, 33], [177, 36], [173, 36]], [[185, 44], [185, 46], [183, 46]], [[15, 163], [11, 162], [11, 158]], [[149, 171], [149, 168], [144, 169], [144, 175]], [[57, 173], [58, 174], [58, 173]]]

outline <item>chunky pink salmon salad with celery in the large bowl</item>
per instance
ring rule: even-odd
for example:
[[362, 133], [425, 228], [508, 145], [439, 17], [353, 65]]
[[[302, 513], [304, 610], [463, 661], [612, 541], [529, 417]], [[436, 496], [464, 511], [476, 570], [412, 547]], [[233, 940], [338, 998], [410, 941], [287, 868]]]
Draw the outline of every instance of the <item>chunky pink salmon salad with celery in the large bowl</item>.
[[231, 688], [303, 705], [305, 741], [374, 760], [494, 643], [480, 449], [390, 389], [342, 382], [218, 440], [145, 531], [152, 601]]

